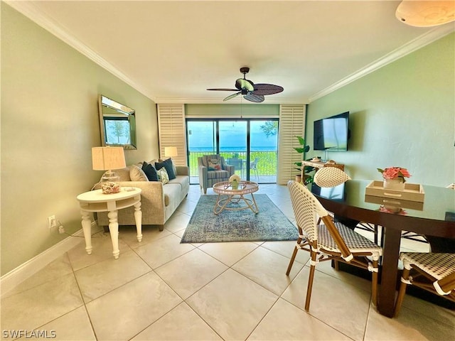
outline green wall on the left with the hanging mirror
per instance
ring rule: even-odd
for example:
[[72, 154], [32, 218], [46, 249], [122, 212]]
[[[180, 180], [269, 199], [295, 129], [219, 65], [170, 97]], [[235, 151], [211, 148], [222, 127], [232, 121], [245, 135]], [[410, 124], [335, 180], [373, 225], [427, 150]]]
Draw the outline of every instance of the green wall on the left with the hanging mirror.
[[1, 2], [1, 275], [64, 239], [55, 215], [81, 228], [76, 196], [92, 188], [100, 146], [98, 94], [136, 109], [138, 149], [127, 163], [158, 158], [156, 105], [104, 68]]

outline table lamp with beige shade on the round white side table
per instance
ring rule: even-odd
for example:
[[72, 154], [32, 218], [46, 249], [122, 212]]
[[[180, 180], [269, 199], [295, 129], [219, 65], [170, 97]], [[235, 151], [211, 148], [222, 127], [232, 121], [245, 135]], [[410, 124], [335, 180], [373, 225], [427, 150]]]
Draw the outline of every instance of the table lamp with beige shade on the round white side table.
[[123, 147], [93, 147], [92, 168], [94, 171], [107, 171], [100, 180], [103, 194], [120, 192], [119, 176], [113, 169], [126, 167]]

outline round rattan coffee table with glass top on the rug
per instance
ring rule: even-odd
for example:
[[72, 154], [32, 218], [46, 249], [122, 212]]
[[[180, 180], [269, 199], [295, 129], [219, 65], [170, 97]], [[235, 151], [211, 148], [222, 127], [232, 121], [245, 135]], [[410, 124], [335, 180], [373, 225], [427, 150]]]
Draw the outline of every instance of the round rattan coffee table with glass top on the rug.
[[[236, 190], [232, 189], [229, 181], [215, 183], [215, 185], [213, 185], [213, 192], [218, 193], [218, 197], [216, 199], [215, 207], [213, 207], [213, 213], [219, 215], [224, 210], [238, 211], [250, 209], [253, 213], [257, 214], [259, 208], [257, 207], [255, 196], [253, 195], [257, 190], [259, 190], [259, 185], [252, 181], [240, 181]], [[251, 194], [251, 199], [245, 197], [247, 194]], [[226, 197], [222, 197], [222, 195], [226, 195]], [[229, 203], [237, 204], [241, 200], [243, 200], [246, 205], [239, 207], [227, 206]]]

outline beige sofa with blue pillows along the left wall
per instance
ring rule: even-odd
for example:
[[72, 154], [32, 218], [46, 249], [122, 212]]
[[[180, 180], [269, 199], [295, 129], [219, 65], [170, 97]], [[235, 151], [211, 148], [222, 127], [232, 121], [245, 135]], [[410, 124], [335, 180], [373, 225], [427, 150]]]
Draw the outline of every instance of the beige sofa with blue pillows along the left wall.
[[[153, 161], [149, 163], [154, 164]], [[188, 167], [176, 166], [176, 178], [169, 180], [166, 185], [163, 185], [161, 181], [132, 181], [130, 178], [130, 168], [132, 167], [129, 166], [115, 171], [120, 177], [120, 185], [122, 187], [141, 188], [142, 226], [158, 225], [159, 230], [163, 231], [164, 223], [188, 195], [188, 190], [190, 189]], [[107, 231], [109, 225], [107, 212], [98, 212], [97, 220], [98, 226], [105, 227]], [[135, 225], [134, 207], [119, 210], [118, 220], [119, 225]]]

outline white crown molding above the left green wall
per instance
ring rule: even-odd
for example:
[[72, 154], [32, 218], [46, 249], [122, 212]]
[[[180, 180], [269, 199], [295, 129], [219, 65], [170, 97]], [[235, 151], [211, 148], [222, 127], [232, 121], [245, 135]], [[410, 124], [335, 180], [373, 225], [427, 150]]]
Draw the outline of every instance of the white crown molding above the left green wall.
[[141, 92], [141, 94], [144, 94], [144, 96], [149, 97], [151, 100], [154, 100], [154, 98], [151, 97], [150, 94], [146, 92], [146, 90], [142, 89], [141, 86], [139, 86], [136, 82], [131, 80], [122, 71], [118, 70], [117, 67], [114, 67], [114, 65], [102, 58], [94, 50], [89, 48], [80, 40], [77, 40], [75, 37], [70, 36], [70, 34], [60, 28], [60, 25], [54, 21], [53, 18], [45, 15], [41, 9], [35, 6], [32, 2], [15, 0], [4, 0], [4, 2], [11, 6], [13, 9], [16, 9], [16, 11], [22, 13], [27, 18], [31, 19], [31, 21], [38, 24], [38, 26], [41, 26], [49, 33], [53, 34], [60, 40], [63, 40], [64, 43], [67, 43], [72, 48], [75, 48], [75, 50], [82, 53], [82, 55], [85, 55], [87, 58], [97, 63], [97, 65], [100, 65], [105, 70], [111, 72], [112, 75], [132, 86], [134, 89]]

